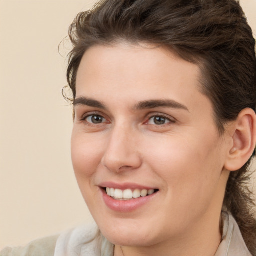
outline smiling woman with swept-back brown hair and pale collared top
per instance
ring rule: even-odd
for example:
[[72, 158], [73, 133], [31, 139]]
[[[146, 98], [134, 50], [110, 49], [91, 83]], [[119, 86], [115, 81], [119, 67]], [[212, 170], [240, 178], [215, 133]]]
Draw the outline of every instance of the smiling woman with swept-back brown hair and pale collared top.
[[98, 227], [47, 253], [256, 255], [255, 41], [239, 3], [105, 0], [69, 36], [72, 162]]

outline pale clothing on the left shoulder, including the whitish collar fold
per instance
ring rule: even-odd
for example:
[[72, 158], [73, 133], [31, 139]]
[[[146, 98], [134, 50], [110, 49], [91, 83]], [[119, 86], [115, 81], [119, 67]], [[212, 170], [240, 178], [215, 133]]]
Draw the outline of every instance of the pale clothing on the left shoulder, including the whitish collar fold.
[[6, 247], [0, 251], [0, 256], [113, 256], [113, 250], [113, 244], [93, 222], [59, 235], [34, 240], [25, 247]]

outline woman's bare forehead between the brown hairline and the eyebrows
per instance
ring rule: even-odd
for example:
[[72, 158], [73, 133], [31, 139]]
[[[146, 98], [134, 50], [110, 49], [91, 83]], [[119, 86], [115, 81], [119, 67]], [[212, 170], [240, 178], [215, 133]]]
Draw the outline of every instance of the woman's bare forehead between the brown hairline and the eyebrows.
[[76, 77], [76, 97], [96, 97], [120, 104], [168, 98], [193, 107], [204, 104], [205, 100], [210, 103], [200, 92], [199, 79], [196, 64], [163, 47], [96, 45], [82, 57]]

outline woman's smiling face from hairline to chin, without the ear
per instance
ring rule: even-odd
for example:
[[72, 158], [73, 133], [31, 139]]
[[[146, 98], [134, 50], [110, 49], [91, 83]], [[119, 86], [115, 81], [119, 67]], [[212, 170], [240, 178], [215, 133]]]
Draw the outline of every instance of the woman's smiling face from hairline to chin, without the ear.
[[147, 246], [216, 227], [227, 135], [217, 132], [199, 75], [197, 65], [152, 45], [85, 52], [72, 162], [90, 212], [112, 243]]

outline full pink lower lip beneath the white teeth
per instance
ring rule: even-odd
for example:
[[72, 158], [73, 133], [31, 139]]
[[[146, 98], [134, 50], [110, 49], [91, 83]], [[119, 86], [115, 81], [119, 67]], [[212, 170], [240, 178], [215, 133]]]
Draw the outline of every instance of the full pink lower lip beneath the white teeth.
[[133, 198], [133, 199], [124, 201], [124, 200], [115, 200], [111, 196], [107, 195], [104, 189], [100, 189], [100, 190], [106, 206], [111, 210], [119, 211], [119, 212], [130, 212], [130, 211], [136, 210], [137, 208], [149, 202], [158, 193], [157, 191], [145, 197], [138, 197], [138, 198]]

